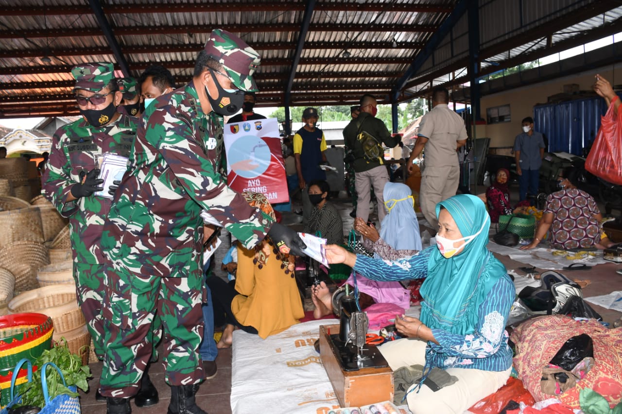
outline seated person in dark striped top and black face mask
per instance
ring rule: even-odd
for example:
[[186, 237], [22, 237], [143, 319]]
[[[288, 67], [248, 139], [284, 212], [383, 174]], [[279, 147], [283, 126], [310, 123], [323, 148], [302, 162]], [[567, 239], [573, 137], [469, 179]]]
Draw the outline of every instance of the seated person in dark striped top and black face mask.
[[309, 221], [303, 232], [319, 234], [327, 239], [327, 244], [343, 243], [343, 220], [335, 206], [327, 201], [330, 186], [323, 180], [315, 180], [309, 185], [309, 201], [313, 205]]

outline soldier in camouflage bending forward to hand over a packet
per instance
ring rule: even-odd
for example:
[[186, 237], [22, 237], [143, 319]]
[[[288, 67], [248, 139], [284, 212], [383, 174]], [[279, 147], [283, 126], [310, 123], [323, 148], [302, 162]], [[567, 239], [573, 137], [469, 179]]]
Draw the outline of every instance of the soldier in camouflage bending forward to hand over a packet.
[[[193, 79], [157, 98], [141, 118], [132, 152], [104, 225], [106, 269], [103, 315], [106, 357], [100, 391], [108, 413], [129, 413], [151, 354], [154, 313], [164, 323], [165, 380], [170, 414], [205, 413], [195, 404], [204, 373], [198, 355], [205, 293], [202, 278], [203, 221], [208, 213], [245, 247], [269, 234], [284, 252], [302, 254], [304, 243], [285, 226], [246, 203], [218, 173], [223, 143], [211, 112], [236, 113], [259, 55], [243, 40], [213, 30], [195, 65]], [[208, 234], [205, 234], [208, 236]]]

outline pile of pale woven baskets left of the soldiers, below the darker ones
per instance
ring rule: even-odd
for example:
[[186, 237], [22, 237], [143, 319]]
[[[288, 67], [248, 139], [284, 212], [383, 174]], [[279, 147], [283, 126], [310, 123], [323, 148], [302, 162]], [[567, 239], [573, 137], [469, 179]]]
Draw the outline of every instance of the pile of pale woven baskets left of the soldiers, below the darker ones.
[[50, 316], [53, 340], [64, 338], [76, 354], [86, 345], [88, 364], [91, 336], [76, 298], [67, 220], [42, 196], [31, 203], [0, 196], [0, 228], [0, 314]]

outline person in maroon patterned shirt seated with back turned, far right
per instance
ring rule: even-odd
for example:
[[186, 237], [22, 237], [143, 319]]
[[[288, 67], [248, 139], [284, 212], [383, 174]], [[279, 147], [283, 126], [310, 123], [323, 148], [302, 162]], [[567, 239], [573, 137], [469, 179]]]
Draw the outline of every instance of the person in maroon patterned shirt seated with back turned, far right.
[[[577, 188], [581, 172], [576, 167], [562, 170], [557, 183], [561, 190], [549, 195], [534, 239], [522, 250], [533, 249], [549, 234], [554, 249], [606, 249], [614, 243], [602, 231], [600, 214], [594, 198]], [[549, 231], [550, 230], [550, 231]]]

